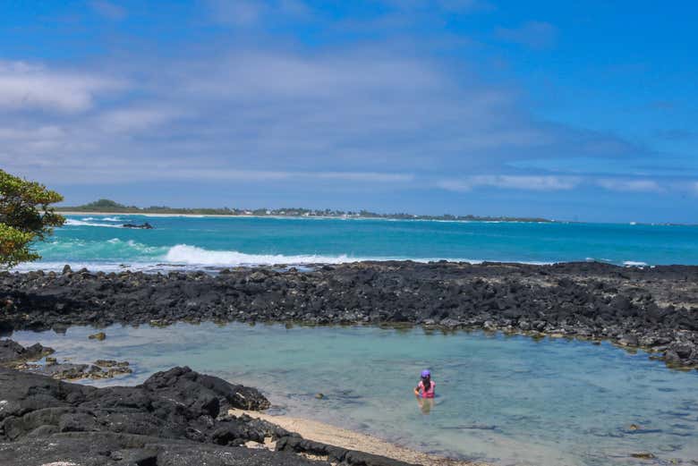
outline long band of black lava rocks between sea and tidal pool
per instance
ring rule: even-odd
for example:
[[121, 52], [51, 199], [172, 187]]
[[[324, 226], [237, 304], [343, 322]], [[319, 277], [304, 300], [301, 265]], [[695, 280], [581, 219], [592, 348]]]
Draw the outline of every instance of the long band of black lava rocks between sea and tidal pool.
[[395, 324], [608, 339], [698, 368], [698, 267], [411, 261], [217, 275], [0, 275], [0, 332], [177, 321]]

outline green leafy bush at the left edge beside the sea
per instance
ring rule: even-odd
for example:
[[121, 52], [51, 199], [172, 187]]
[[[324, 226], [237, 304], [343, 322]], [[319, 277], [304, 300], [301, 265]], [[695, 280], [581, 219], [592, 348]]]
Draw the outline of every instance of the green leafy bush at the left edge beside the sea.
[[40, 256], [31, 249], [64, 224], [51, 204], [63, 196], [38, 182], [0, 170], [0, 267], [13, 267]]

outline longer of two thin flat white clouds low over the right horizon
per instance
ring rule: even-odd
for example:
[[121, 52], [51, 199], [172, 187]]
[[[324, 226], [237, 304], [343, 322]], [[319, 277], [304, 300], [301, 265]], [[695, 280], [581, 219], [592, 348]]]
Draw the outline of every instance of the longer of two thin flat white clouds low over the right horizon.
[[437, 186], [447, 191], [472, 191], [480, 187], [524, 191], [561, 191], [572, 190], [580, 182], [581, 179], [574, 176], [484, 174], [461, 179], [441, 180], [437, 182]]

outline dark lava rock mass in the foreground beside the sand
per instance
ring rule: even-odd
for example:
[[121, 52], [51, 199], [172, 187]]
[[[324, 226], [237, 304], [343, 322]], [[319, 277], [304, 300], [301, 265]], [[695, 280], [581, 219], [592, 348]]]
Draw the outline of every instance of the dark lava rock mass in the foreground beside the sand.
[[409, 466], [228, 414], [268, 407], [255, 388], [189, 368], [105, 388], [0, 368], [0, 464]]

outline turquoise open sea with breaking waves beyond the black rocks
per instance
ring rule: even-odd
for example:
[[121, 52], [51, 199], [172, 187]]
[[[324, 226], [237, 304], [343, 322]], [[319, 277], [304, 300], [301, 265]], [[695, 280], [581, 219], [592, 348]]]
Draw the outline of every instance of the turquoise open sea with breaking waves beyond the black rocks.
[[[121, 228], [148, 221], [154, 230]], [[359, 259], [698, 264], [698, 226], [182, 216], [70, 216], [40, 263], [92, 269], [336, 263]]]

